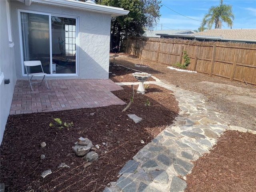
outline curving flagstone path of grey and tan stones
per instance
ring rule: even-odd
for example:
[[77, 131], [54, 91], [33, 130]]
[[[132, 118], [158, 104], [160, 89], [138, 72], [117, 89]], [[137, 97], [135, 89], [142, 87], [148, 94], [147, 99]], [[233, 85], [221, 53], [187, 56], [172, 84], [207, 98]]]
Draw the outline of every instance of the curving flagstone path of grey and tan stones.
[[[182, 192], [186, 188], [186, 182], [178, 176], [190, 173], [193, 168], [191, 161], [209, 152], [222, 132], [228, 129], [248, 131], [245, 128], [228, 126], [218, 117], [218, 110], [209, 106], [204, 96], [199, 93], [164, 84], [158, 79], [156, 82], [146, 83], [172, 90], [179, 102], [180, 114], [172, 125], [144, 146], [133, 157], [132, 162], [127, 163], [136, 172], [131, 170], [122, 174], [104, 192]], [[135, 83], [117, 84], [122, 86]], [[135, 168], [134, 165], [138, 166]]]

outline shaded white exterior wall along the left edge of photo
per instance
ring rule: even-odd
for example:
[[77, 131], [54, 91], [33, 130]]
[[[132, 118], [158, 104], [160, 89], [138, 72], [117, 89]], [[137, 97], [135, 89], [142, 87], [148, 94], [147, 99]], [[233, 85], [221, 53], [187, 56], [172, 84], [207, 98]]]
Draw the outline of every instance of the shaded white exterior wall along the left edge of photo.
[[0, 0], [0, 73], [2, 77], [10, 79], [10, 84], [4, 84], [4, 79], [0, 82], [0, 144], [2, 143], [4, 129], [12, 103], [14, 86], [17, 80], [14, 47], [18, 46], [18, 44], [9, 42], [9, 35], [12, 38], [12, 33], [8, 31], [7, 3], [8, 1]]

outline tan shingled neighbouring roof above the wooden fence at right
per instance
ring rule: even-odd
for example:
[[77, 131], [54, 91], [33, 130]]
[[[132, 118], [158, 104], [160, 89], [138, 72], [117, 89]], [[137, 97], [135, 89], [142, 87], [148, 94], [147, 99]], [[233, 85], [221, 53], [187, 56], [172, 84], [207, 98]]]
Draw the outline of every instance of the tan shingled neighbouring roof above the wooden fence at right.
[[217, 36], [224, 39], [256, 40], [256, 29], [211, 29], [194, 35]]

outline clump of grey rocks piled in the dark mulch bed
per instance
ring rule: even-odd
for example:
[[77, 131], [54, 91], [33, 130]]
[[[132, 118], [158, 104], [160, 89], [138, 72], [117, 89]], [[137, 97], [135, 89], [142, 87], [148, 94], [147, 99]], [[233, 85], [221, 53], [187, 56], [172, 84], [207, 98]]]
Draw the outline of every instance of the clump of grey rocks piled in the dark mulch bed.
[[72, 151], [77, 156], [85, 156], [84, 159], [88, 162], [96, 161], [99, 158], [99, 155], [92, 148], [92, 142], [88, 138], [80, 137], [75, 144], [72, 147]]

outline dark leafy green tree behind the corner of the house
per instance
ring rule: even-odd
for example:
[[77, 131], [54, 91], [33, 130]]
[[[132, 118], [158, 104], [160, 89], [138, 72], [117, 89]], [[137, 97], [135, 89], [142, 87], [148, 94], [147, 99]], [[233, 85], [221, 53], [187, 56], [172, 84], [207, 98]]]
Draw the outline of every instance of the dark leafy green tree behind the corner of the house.
[[146, 28], [152, 29], [160, 18], [161, 0], [95, 0], [97, 4], [129, 10], [125, 16], [111, 19], [110, 47], [119, 45], [121, 37], [142, 36]]

